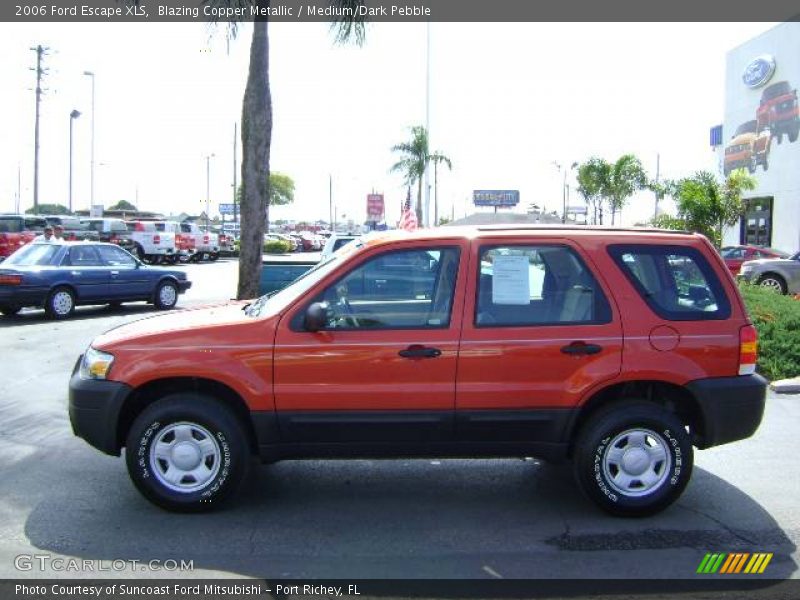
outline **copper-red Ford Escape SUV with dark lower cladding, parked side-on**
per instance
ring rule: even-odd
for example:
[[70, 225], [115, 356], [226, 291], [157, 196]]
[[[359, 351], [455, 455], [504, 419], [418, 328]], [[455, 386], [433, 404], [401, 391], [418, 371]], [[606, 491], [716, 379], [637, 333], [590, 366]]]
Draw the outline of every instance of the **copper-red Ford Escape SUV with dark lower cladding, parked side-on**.
[[250, 455], [570, 459], [617, 515], [674, 502], [692, 446], [764, 411], [756, 332], [702, 236], [440, 228], [371, 238], [289, 287], [96, 338], [75, 433], [171, 510], [229, 498]]

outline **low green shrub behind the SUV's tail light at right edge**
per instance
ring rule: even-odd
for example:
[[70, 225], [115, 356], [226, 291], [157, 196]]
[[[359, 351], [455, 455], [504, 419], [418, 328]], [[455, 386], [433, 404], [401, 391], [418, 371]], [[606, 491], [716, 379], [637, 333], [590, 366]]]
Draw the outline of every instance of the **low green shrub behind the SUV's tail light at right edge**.
[[800, 301], [755, 285], [740, 289], [758, 330], [758, 372], [767, 379], [800, 375]]

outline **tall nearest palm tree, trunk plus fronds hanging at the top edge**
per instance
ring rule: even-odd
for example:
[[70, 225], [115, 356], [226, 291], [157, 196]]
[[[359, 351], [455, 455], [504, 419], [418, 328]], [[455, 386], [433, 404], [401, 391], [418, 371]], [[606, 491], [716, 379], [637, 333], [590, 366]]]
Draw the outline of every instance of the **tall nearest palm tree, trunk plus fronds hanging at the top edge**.
[[[203, 0], [213, 7], [244, 9], [250, 15], [254, 6], [258, 14], [269, 12], [270, 0]], [[364, 0], [332, 0], [337, 9], [344, 9], [340, 20], [331, 25], [336, 43], [355, 39], [364, 41], [364, 20], [358, 8]], [[338, 14], [339, 11], [337, 11]], [[235, 37], [237, 24], [229, 24], [228, 35]], [[259, 16], [253, 22], [250, 43], [250, 67], [242, 102], [242, 201], [240, 214], [241, 250], [239, 253], [239, 286], [237, 297], [258, 295], [261, 275], [261, 250], [266, 227], [268, 204], [270, 146], [272, 144], [272, 96], [269, 87], [268, 18]]]

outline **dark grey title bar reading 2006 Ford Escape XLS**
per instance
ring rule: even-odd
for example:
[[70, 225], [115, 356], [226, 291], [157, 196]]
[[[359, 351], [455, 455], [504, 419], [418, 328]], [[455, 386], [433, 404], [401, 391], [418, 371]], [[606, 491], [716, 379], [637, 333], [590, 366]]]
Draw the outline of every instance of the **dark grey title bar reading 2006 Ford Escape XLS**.
[[797, 21], [797, 0], [4, 0], [5, 22]]

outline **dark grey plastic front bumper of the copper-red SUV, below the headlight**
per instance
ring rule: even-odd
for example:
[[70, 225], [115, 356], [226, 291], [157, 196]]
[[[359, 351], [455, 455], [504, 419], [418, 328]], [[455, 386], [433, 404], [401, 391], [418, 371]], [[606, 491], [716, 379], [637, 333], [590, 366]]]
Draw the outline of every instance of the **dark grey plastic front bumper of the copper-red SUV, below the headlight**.
[[[83, 357], [78, 359], [78, 365]], [[91, 446], [119, 456], [122, 444], [117, 428], [130, 386], [118, 381], [81, 379], [78, 369], [69, 381], [69, 421], [72, 432]]]

